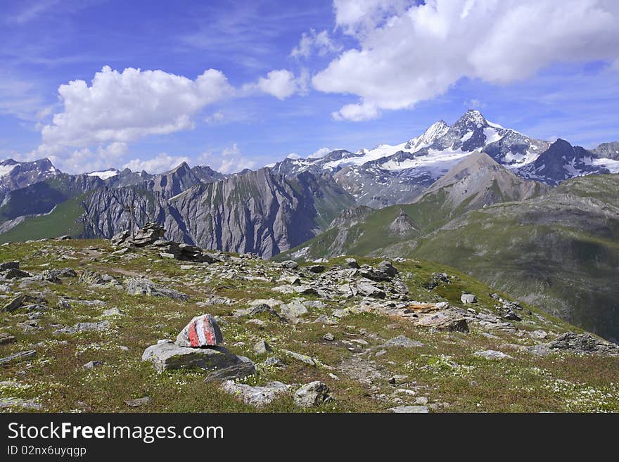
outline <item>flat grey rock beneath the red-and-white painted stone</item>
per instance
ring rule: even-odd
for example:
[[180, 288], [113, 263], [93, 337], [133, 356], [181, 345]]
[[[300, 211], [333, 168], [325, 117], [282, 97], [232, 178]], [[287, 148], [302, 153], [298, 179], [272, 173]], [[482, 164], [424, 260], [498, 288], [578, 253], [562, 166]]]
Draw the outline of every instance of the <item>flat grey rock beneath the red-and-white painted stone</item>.
[[197, 367], [212, 371], [239, 364], [241, 359], [224, 347], [179, 347], [174, 342], [157, 343], [146, 348], [142, 361], [150, 361], [158, 372]]

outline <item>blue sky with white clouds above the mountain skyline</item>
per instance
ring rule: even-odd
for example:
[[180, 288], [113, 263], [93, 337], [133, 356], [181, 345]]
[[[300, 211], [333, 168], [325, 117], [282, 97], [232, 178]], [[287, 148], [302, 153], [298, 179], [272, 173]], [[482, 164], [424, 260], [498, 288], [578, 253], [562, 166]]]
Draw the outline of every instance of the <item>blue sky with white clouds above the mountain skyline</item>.
[[616, 2], [499, 3], [4, 0], [0, 158], [234, 171], [399, 143], [468, 108], [619, 141]]

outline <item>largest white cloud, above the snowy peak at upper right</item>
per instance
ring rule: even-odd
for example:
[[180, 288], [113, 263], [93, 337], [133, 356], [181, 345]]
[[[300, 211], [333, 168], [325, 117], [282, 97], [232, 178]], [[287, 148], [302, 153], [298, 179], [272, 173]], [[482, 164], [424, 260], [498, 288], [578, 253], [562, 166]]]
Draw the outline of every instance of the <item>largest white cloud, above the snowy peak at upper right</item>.
[[411, 108], [462, 77], [507, 84], [555, 62], [619, 60], [616, 1], [336, 0], [334, 10], [359, 42], [312, 79], [359, 96], [336, 120]]

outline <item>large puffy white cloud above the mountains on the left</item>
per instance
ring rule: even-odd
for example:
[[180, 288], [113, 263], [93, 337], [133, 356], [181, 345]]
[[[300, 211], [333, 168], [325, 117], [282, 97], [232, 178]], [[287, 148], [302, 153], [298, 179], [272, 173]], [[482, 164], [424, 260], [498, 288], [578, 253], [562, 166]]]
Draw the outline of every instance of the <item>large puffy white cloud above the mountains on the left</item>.
[[218, 70], [191, 80], [162, 70], [117, 72], [106, 66], [91, 86], [84, 80], [60, 85], [64, 110], [43, 127], [42, 143], [91, 146], [190, 129], [193, 114], [231, 93]]

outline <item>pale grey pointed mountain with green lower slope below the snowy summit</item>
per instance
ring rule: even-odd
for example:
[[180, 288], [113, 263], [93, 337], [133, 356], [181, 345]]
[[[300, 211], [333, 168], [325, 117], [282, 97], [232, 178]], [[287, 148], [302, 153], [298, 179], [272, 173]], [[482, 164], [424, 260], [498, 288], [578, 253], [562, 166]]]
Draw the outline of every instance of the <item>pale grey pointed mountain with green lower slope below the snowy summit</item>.
[[378, 249], [423, 236], [468, 210], [523, 200], [548, 190], [549, 186], [517, 177], [485, 153], [473, 153], [414, 203], [365, 212], [362, 219], [355, 222], [340, 219], [325, 233], [278, 258], [375, 255]]

